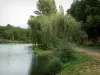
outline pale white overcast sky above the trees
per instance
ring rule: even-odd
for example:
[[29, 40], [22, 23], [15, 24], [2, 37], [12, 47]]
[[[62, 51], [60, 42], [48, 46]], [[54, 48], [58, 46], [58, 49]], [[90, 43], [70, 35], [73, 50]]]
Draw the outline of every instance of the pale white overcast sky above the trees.
[[[27, 28], [30, 15], [34, 15], [38, 0], [0, 0], [0, 25], [11, 24]], [[66, 11], [73, 0], [55, 0], [57, 8], [62, 5]]]

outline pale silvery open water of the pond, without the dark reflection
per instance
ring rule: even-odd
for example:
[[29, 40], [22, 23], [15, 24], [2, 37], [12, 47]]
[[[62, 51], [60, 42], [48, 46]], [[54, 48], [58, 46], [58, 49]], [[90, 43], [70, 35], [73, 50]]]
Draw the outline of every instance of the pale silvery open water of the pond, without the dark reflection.
[[0, 75], [28, 75], [31, 44], [0, 44]]

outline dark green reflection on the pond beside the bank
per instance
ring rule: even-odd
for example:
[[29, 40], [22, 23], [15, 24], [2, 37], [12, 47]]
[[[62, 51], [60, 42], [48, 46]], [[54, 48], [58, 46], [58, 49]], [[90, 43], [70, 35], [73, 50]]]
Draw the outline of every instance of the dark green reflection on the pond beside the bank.
[[45, 73], [45, 67], [48, 63], [48, 57], [45, 55], [34, 55], [31, 63], [31, 69], [29, 75], [47, 75]]

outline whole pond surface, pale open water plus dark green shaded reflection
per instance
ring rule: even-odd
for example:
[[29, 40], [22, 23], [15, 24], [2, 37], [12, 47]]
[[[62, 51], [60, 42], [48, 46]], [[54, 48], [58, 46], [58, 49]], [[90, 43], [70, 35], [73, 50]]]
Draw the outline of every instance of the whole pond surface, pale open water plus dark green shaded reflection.
[[34, 54], [32, 44], [0, 44], [0, 75], [47, 75], [47, 56]]

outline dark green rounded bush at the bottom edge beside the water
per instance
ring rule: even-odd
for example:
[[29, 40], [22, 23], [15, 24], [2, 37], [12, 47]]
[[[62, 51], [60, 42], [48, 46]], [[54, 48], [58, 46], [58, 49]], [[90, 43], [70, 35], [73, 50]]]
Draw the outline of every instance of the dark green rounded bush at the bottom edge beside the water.
[[58, 58], [53, 58], [50, 60], [45, 68], [46, 75], [55, 75], [60, 72], [62, 68], [61, 62]]

